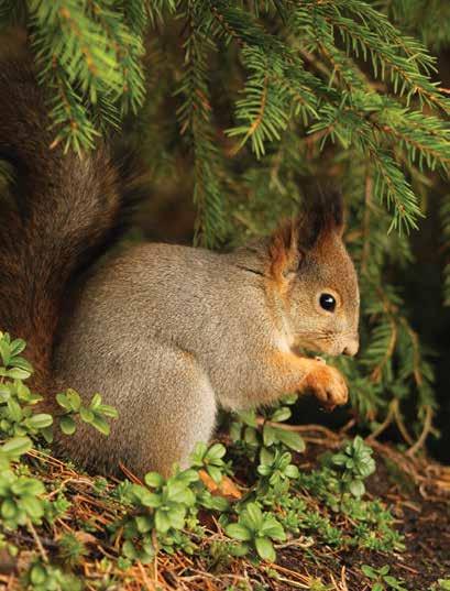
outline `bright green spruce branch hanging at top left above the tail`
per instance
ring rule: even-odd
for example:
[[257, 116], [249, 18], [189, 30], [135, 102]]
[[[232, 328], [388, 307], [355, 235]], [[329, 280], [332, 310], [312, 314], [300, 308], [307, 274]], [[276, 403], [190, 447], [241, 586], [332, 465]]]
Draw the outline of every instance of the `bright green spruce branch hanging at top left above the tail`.
[[56, 91], [51, 116], [65, 149], [92, 147], [100, 129], [143, 103], [143, 41], [135, 28], [145, 17], [120, 4], [28, 0], [40, 80]]

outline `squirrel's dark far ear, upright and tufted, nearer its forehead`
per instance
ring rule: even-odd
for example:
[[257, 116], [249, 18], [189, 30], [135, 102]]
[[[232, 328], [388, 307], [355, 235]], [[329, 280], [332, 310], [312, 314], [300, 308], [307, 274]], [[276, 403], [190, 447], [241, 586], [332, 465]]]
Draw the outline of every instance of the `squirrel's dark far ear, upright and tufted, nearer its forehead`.
[[299, 248], [311, 250], [328, 236], [342, 236], [342, 195], [336, 190], [319, 191], [308, 200], [306, 212], [299, 220]]

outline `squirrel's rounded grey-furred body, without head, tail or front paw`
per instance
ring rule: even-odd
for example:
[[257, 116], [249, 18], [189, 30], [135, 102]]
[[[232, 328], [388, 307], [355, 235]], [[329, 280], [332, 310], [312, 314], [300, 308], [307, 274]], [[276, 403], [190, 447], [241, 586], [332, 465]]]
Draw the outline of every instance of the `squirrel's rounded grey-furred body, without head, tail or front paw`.
[[168, 473], [210, 438], [219, 405], [255, 407], [298, 390], [305, 366], [281, 372], [274, 361], [293, 357], [293, 326], [257, 269], [251, 251], [143, 244], [98, 271], [65, 329], [56, 374], [86, 396], [99, 391], [119, 419], [108, 439], [80, 426], [65, 449], [100, 469], [122, 461]]

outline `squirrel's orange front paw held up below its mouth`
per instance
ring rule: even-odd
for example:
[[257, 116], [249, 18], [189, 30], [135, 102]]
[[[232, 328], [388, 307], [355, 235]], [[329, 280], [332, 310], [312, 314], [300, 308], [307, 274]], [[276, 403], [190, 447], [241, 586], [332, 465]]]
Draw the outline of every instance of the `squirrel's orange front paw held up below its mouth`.
[[345, 404], [349, 398], [349, 388], [341, 373], [325, 363], [318, 363], [307, 375], [305, 386], [314, 391], [316, 397], [328, 411]]

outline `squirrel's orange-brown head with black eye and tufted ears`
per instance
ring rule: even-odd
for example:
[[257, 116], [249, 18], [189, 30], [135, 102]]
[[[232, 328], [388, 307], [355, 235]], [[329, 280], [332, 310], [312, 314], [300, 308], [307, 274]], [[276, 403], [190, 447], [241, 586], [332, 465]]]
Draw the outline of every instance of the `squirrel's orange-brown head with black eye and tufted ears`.
[[358, 352], [360, 293], [342, 231], [342, 198], [331, 193], [270, 240], [270, 274], [294, 347], [331, 355]]

